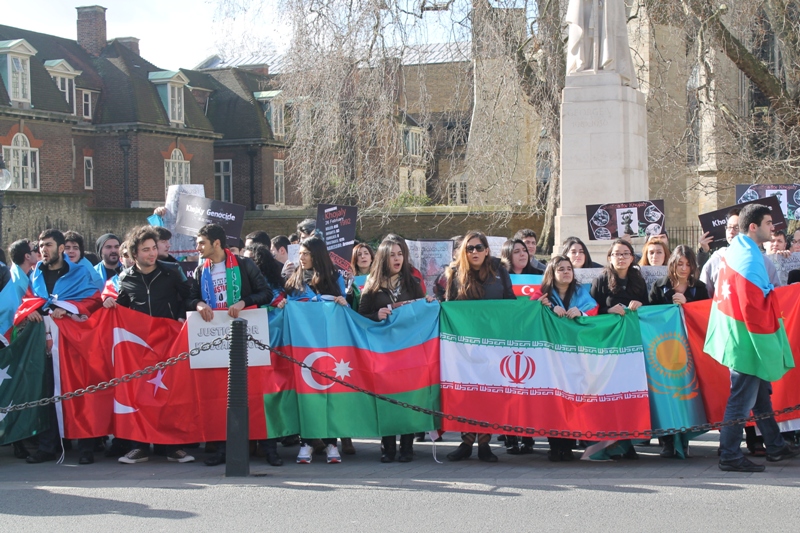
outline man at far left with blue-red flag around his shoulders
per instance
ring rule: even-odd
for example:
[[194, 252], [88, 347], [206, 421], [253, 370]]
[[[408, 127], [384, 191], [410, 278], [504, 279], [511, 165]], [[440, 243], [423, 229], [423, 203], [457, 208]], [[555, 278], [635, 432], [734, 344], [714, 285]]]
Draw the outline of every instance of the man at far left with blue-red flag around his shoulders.
[[[64, 254], [64, 234], [56, 229], [48, 229], [39, 235], [39, 248], [42, 260], [36, 264], [31, 273], [31, 285], [22, 300], [14, 325], [21, 325], [26, 319], [41, 322], [44, 315], [59, 320], [72, 317], [80, 320], [100, 307], [100, 293], [92, 279], [92, 272], [83, 266], [72, 263]], [[50, 354], [48, 354], [50, 357]], [[46, 365], [52, 372], [52, 364]], [[53, 394], [53, 375], [48, 380], [50, 390], [46, 396]], [[58, 434], [58, 421], [54, 405], [47, 406], [50, 417], [49, 429], [39, 434], [39, 449], [28, 456], [29, 463], [42, 463], [57, 458], [56, 452], [61, 445]], [[80, 463], [94, 462], [92, 448], [95, 439], [81, 439], [79, 449]]]

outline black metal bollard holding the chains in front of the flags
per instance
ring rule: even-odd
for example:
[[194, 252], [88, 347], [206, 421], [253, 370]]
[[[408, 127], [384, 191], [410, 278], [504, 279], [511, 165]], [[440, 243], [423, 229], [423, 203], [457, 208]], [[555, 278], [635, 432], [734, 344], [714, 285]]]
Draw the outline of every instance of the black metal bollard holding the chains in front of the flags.
[[231, 322], [225, 477], [250, 475], [249, 415], [247, 406], [247, 320], [237, 318]]

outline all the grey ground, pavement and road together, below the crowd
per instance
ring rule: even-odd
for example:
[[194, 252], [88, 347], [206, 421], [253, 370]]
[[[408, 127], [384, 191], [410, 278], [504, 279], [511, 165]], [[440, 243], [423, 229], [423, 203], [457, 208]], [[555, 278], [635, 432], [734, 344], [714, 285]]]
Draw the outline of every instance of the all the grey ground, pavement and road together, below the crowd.
[[[201, 462], [28, 465], [0, 448], [0, 531], [692, 531], [794, 530], [800, 458], [760, 474], [721, 472], [717, 435], [701, 437], [687, 460], [638, 448], [637, 461], [551, 463], [537, 453], [496, 464], [444, 459], [457, 435], [415, 445], [411, 463], [379, 462], [377, 440], [356, 440], [342, 464], [251, 461], [251, 476], [224, 477]], [[204, 454], [196, 451], [198, 459]], [[760, 462], [763, 459], [759, 460]], [[794, 525], [793, 525], [794, 524]]]

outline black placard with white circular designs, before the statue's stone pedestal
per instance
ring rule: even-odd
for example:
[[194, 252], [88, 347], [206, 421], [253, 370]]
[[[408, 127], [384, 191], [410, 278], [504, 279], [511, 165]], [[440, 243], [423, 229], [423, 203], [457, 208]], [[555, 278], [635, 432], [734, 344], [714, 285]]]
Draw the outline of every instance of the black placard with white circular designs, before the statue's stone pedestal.
[[664, 233], [664, 220], [664, 200], [586, 206], [589, 239], [593, 241], [659, 235]]

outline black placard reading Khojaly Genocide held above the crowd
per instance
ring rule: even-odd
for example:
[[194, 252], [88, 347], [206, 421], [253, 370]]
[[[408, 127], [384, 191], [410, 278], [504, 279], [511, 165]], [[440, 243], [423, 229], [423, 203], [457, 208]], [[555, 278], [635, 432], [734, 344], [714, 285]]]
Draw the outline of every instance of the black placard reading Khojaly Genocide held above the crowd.
[[206, 224], [219, 224], [225, 230], [228, 246], [238, 246], [244, 224], [244, 211], [243, 205], [182, 194], [178, 199], [175, 231], [196, 237], [197, 231]]

